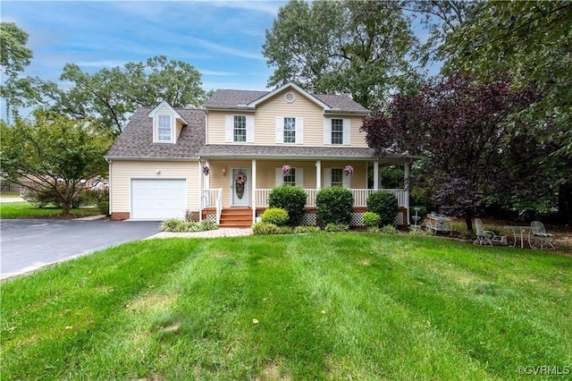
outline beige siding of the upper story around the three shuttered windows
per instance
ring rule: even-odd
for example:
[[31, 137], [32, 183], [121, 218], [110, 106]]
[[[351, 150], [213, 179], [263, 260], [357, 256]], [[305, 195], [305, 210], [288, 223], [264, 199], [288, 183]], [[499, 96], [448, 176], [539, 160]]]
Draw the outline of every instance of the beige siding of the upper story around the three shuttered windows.
[[[284, 95], [294, 93], [296, 99], [292, 103], [286, 102]], [[324, 119], [340, 118], [350, 121], [350, 144], [343, 147], [367, 147], [366, 134], [360, 132], [362, 116], [344, 114], [326, 114], [324, 108], [316, 105], [312, 100], [303, 96], [294, 89], [284, 89], [280, 93], [257, 105], [254, 115], [254, 143], [227, 143], [225, 141], [226, 115], [250, 114], [243, 110], [218, 111], [208, 110], [208, 144], [254, 144], [258, 146], [274, 146], [285, 143], [276, 142], [276, 118], [296, 117], [304, 123], [302, 143], [286, 143], [286, 145], [328, 147], [324, 144]]]

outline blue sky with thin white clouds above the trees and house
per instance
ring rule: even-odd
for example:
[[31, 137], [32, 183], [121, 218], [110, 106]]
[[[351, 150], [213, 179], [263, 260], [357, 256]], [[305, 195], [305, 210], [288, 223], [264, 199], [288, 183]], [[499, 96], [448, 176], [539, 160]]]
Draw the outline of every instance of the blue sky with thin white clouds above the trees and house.
[[203, 87], [265, 89], [265, 30], [285, 1], [2, 1], [2, 21], [29, 34], [24, 75], [58, 80], [65, 63], [103, 67], [166, 55], [195, 66]]

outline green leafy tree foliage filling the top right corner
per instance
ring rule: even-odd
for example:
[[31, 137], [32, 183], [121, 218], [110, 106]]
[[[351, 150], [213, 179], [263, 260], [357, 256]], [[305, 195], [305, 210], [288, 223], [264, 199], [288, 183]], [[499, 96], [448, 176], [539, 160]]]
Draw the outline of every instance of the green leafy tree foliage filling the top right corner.
[[[534, 85], [543, 97], [526, 115], [557, 155], [572, 157], [572, 3], [491, 1], [448, 35], [445, 72], [482, 80], [509, 75], [518, 89]], [[547, 128], [550, 127], [550, 128]]]

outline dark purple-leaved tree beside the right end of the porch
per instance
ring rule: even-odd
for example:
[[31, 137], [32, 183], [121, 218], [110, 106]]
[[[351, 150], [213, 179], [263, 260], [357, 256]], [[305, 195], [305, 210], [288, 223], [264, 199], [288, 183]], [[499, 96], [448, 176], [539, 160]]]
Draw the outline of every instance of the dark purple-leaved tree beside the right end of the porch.
[[387, 114], [378, 109], [362, 130], [378, 156], [395, 150], [425, 157], [433, 202], [443, 213], [465, 216], [472, 232], [485, 199], [509, 190], [502, 159], [513, 143], [509, 127], [517, 123], [509, 116], [533, 101], [533, 92], [512, 90], [508, 81], [455, 75], [429, 82], [416, 96], [397, 95]]

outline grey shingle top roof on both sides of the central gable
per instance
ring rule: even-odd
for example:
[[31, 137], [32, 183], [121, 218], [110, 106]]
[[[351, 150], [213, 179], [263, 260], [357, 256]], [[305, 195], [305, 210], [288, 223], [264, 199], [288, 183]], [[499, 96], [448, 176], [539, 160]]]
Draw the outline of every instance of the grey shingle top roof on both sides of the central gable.
[[[206, 108], [229, 107], [234, 108], [239, 105], [248, 105], [259, 97], [264, 97], [271, 91], [250, 91], [250, 90], [216, 90], [213, 96], [206, 101]], [[345, 95], [314, 94], [314, 97], [324, 102], [333, 109], [340, 109], [341, 112], [367, 113], [364, 106]]]

